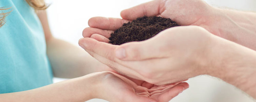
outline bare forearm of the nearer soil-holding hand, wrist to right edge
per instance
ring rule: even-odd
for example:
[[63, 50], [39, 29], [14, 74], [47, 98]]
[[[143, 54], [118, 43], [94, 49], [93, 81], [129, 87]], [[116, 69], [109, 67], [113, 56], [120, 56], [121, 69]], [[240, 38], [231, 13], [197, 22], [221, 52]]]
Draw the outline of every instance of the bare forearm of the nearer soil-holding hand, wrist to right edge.
[[245, 91], [256, 99], [256, 51], [219, 38], [213, 47], [215, 66], [210, 75]]

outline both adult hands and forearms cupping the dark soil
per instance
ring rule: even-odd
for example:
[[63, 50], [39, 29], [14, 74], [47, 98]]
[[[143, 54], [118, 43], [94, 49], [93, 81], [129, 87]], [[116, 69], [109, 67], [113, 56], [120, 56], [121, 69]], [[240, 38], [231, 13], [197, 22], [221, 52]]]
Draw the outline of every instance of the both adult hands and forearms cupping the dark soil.
[[[144, 15], [171, 18], [187, 27], [170, 28], [141, 42], [108, 44], [113, 30]], [[214, 8], [201, 0], [154, 0], [121, 16], [91, 18], [79, 45], [131, 78], [163, 85], [208, 74], [256, 98], [255, 13]]]

